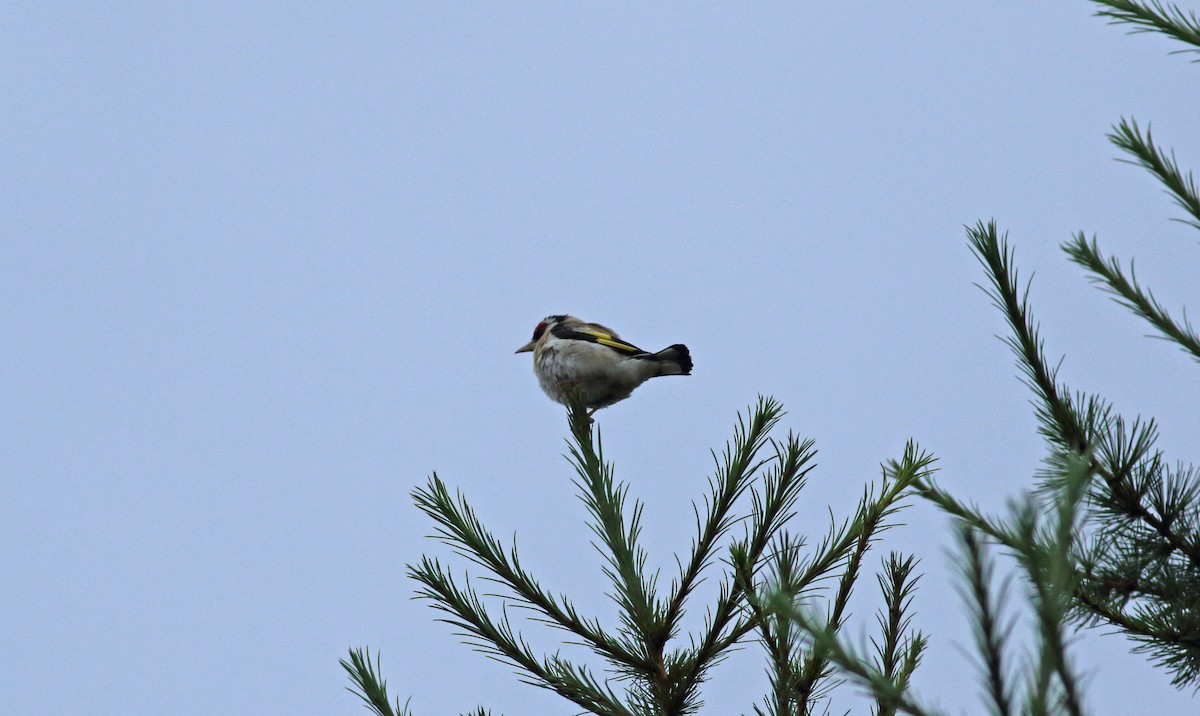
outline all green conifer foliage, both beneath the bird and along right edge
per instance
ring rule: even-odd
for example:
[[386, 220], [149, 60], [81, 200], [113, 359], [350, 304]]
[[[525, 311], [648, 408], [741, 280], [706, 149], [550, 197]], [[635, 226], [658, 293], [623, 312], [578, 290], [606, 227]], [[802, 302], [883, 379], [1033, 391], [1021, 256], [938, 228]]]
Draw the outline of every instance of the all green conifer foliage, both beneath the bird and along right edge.
[[[1098, 12], [1134, 31], [1160, 32], [1200, 52], [1194, 13], [1154, 0], [1093, 0]], [[1122, 119], [1110, 134], [1128, 161], [1151, 172], [1186, 212], [1181, 221], [1200, 229], [1200, 193], [1174, 152], [1162, 150], [1148, 128]], [[962, 594], [971, 613], [988, 710], [1010, 714], [1084, 714], [1084, 698], [1068, 650], [1073, 622], [1116, 627], [1139, 643], [1172, 675], [1177, 686], [1200, 686], [1200, 475], [1193, 465], [1171, 465], [1154, 447], [1153, 420], [1127, 420], [1103, 398], [1072, 392], [1045, 356], [1014, 265], [1013, 251], [995, 222], [968, 229], [972, 251], [988, 275], [988, 291], [1009, 324], [1009, 347], [1036, 397], [1039, 429], [1048, 445], [1037, 489], [1001, 516], [985, 515], [938, 487], [932, 458], [910, 444], [900, 461], [884, 465], [877, 488], [868, 487], [854, 515], [835, 522], [815, 548], [790, 528], [793, 506], [814, 469], [811, 441], [770, 437], [781, 407], [760, 399], [739, 417], [733, 440], [716, 461], [696, 534], [679, 558], [679, 572], [662, 591], [647, 571], [640, 546], [642, 506], [629, 501], [630, 486], [616, 480], [605, 461], [599, 431], [582, 407], [569, 410], [570, 458], [602, 565], [620, 612], [618, 625], [589, 618], [565, 596], [545, 590], [478, 518], [464, 495], [451, 494], [433, 475], [414, 491], [418, 507], [452, 550], [503, 586], [490, 610], [463, 577], [456, 580], [438, 559], [409, 566], [419, 594], [443, 612], [476, 650], [512, 664], [521, 678], [563, 696], [577, 709], [606, 715], [692, 714], [701, 687], [731, 649], [757, 643], [768, 664], [769, 692], [752, 709], [760, 715], [808, 715], [839, 679], [863, 686], [872, 711], [935, 714], [910, 688], [926, 648], [912, 628], [917, 576], [912, 556], [890, 554], [877, 574], [883, 608], [872, 649], [842, 634], [851, 591], [874, 542], [892, 523], [908, 492], [937, 504], [958, 523]], [[1200, 337], [1175, 319], [1121, 261], [1102, 253], [1084, 234], [1063, 245], [1118, 303], [1150, 323], [1165, 339], [1200, 360]], [[715, 453], [714, 453], [715, 457]], [[749, 503], [749, 505], [746, 504]], [[1015, 558], [1024, 591], [997, 580], [992, 556], [1002, 547]], [[708, 604], [702, 630], [680, 638], [682, 615], [696, 597], [702, 574], [719, 568], [720, 588]], [[818, 597], [815, 586], [833, 579], [836, 589]], [[1022, 598], [1024, 597], [1024, 598]], [[538, 655], [504, 610], [521, 606], [536, 620], [586, 645], [592, 663], [559, 654]], [[1008, 604], [1008, 607], [1006, 607]], [[1030, 609], [1034, 645], [1014, 655], [1007, 640], [1015, 606]], [[352, 649], [342, 661], [356, 693], [379, 716], [408, 716], [380, 676], [378, 656]], [[748, 703], [752, 698], [748, 694]], [[474, 711], [482, 716], [484, 708]]]

